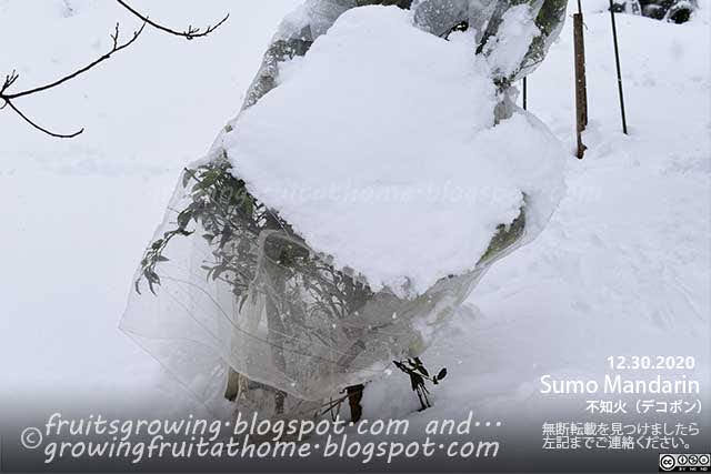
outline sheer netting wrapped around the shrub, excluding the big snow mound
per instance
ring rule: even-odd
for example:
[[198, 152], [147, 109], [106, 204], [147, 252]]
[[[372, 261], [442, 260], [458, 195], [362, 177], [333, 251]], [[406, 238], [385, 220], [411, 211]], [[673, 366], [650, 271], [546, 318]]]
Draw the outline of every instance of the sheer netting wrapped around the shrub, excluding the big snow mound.
[[[303, 56], [343, 11], [371, 3], [378, 2], [310, 0], [289, 16], [243, 110], [278, 87], [281, 61]], [[492, 22], [504, 13], [502, 6], [525, 2], [385, 3], [412, 7], [417, 24], [438, 34], [471, 21], [485, 41], [495, 37]], [[541, 21], [533, 40], [539, 46], [531, 44], [513, 77], [540, 62], [532, 58], [544, 53], [564, 17], [565, 1], [528, 3]], [[468, 273], [422, 294], [373, 291], [252, 196], [219, 137], [207, 158], [184, 170], [120, 326], [208, 406], [227, 399], [266, 416], [311, 416], [346, 387], [380, 376], [393, 360], [420, 355], [490, 265], [538, 232], [528, 229], [527, 212], [524, 204], [512, 224], [499, 226]]]

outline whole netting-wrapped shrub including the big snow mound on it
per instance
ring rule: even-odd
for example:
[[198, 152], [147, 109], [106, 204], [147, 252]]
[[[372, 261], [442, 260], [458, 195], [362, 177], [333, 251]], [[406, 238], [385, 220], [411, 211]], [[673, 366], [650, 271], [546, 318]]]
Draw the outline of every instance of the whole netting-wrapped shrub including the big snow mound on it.
[[420, 355], [561, 198], [511, 83], [565, 1], [363, 3], [284, 20], [141, 262], [122, 329], [202, 401], [309, 416]]

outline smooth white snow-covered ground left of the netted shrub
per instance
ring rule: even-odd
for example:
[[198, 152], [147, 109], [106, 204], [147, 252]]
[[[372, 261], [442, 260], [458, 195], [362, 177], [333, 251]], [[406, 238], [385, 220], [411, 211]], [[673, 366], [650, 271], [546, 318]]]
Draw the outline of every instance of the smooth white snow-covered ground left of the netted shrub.
[[[239, 110], [276, 24], [298, 3], [133, 2], [177, 29], [231, 18], [202, 41], [147, 29], [90, 73], [17, 102], [53, 130], [86, 127], [74, 140], [0, 114], [1, 397], [83, 394], [101, 406], [104, 395], [163, 396], [157, 363], [117, 329], [131, 275], [176, 177]], [[140, 26], [113, 2], [0, 0], [0, 70], [17, 69], [18, 88], [53, 80], [102, 54], [117, 21], [126, 37]]]

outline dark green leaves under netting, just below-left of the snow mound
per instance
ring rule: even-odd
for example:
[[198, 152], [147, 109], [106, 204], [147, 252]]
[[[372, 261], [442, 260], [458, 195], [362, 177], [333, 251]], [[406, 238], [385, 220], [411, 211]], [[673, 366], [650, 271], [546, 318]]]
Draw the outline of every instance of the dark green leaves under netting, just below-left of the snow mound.
[[[310, 317], [330, 315], [343, 319], [365, 304], [372, 291], [350, 274], [338, 271], [321, 255], [311, 252], [306, 243], [280, 219], [254, 199], [244, 181], [234, 178], [227, 159], [218, 160], [196, 170], [184, 170], [182, 186], [188, 205], [177, 214], [174, 229], [152, 242], [141, 261], [136, 281], [146, 280], [150, 291], [161, 284], [157, 266], [169, 262], [166, 250], [177, 236], [192, 235], [196, 230], [209, 244], [211, 256], [201, 269], [208, 280], [220, 280], [231, 288], [238, 301], [244, 303], [250, 283], [258, 271], [260, 234], [281, 231], [267, 236], [262, 243], [266, 265], [271, 279], [271, 301], [279, 306], [282, 317], [308, 327]], [[304, 293], [310, 304], [302, 304]]]

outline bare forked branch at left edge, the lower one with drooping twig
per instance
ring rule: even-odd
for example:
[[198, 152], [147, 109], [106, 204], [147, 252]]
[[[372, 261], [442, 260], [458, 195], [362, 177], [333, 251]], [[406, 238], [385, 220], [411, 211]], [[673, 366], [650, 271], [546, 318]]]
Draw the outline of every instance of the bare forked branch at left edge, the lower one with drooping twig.
[[30, 125], [32, 125], [33, 128], [36, 128], [37, 130], [40, 130], [44, 133], [47, 133], [48, 135], [51, 137], [56, 137], [56, 138], [61, 138], [61, 139], [70, 139], [70, 138], [74, 138], [78, 134], [80, 134], [81, 132], [84, 131], [84, 129], [79, 130], [78, 132], [74, 133], [69, 133], [69, 134], [64, 134], [64, 133], [56, 133], [56, 132], [51, 132], [48, 129], [38, 125], [33, 120], [31, 120], [30, 118], [28, 118], [24, 113], [22, 113], [20, 111], [20, 109], [17, 108], [17, 105], [14, 105], [14, 103], [12, 103], [12, 101], [14, 99], [19, 99], [21, 97], [24, 95], [30, 95], [37, 92], [42, 92], [46, 91], [48, 89], [51, 88], [56, 88], [87, 71], [89, 71], [90, 69], [99, 65], [100, 63], [102, 63], [103, 61], [108, 60], [109, 58], [111, 58], [111, 54], [113, 54], [114, 52], [119, 52], [122, 49], [126, 49], [128, 47], [130, 47], [137, 39], [138, 37], [143, 32], [143, 29], [146, 28], [146, 23], [143, 23], [141, 26], [141, 28], [137, 31], [133, 32], [133, 36], [131, 37], [130, 40], [126, 41], [124, 43], [119, 43], [119, 23], [116, 23], [116, 29], [113, 31], [113, 33], [111, 34], [111, 40], [112, 40], [112, 47], [111, 50], [109, 52], [107, 52], [106, 54], [103, 54], [102, 57], [100, 57], [99, 59], [97, 59], [96, 61], [91, 62], [90, 64], [72, 72], [71, 74], [64, 75], [61, 79], [58, 79], [53, 82], [50, 82], [48, 84], [44, 85], [40, 85], [37, 88], [32, 88], [32, 89], [27, 89], [20, 92], [14, 92], [14, 93], [7, 93], [7, 90], [12, 87], [12, 84], [18, 80], [19, 74], [17, 73], [17, 71], [12, 71], [10, 74], [6, 75], [4, 82], [2, 84], [2, 88], [0, 88], [0, 100], [2, 101], [2, 105], [0, 107], [0, 110], [4, 109], [6, 105], [9, 105], [10, 109], [12, 111], [14, 111], [18, 115], [20, 115], [26, 122], [28, 122]]

